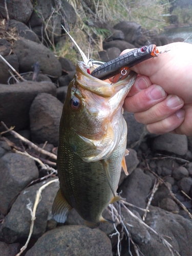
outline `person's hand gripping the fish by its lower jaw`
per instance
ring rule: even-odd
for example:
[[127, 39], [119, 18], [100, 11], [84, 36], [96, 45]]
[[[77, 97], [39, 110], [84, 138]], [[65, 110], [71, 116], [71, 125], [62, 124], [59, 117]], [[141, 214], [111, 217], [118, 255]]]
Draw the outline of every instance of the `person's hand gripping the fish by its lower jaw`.
[[176, 42], [158, 50], [170, 51], [131, 68], [140, 76], [123, 108], [151, 133], [192, 135], [192, 45]]

